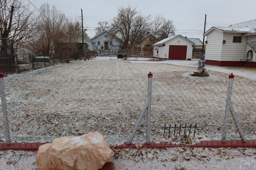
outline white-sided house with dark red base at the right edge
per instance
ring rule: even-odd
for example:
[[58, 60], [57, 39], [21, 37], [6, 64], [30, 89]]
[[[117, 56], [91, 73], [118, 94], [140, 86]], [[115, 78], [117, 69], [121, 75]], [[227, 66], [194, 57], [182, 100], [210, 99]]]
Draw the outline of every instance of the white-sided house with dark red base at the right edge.
[[256, 67], [256, 46], [248, 45], [256, 41], [256, 20], [211, 27], [204, 36], [206, 64]]

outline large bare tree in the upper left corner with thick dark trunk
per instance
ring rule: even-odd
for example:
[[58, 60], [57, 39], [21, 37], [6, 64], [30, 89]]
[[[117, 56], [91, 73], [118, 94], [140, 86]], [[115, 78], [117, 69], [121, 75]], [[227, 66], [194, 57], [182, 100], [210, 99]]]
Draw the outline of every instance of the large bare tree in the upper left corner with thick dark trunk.
[[16, 49], [31, 32], [33, 10], [23, 0], [0, 0], [1, 51], [7, 50], [7, 39], [11, 39]]

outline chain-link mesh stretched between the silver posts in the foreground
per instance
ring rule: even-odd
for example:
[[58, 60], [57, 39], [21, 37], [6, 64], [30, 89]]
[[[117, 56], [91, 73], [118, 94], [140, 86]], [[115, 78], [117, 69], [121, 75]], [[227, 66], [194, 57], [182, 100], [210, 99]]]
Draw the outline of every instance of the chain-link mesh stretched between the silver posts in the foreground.
[[[154, 79], [155, 78], [155, 79]], [[186, 83], [184, 83], [186, 82]], [[189, 82], [189, 83], [187, 83]], [[101, 132], [124, 143], [148, 96], [148, 80], [30, 80], [6, 78], [12, 142], [51, 142], [62, 136]], [[151, 141], [192, 145], [221, 140], [228, 78], [158, 79], [153, 76]], [[234, 78], [232, 104], [247, 140], [256, 139], [256, 82]], [[5, 142], [3, 117], [0, 140]], [[146, 114], [133, 142], [146, 141]], [[226, 139], [240, 139], [231, 116]]]

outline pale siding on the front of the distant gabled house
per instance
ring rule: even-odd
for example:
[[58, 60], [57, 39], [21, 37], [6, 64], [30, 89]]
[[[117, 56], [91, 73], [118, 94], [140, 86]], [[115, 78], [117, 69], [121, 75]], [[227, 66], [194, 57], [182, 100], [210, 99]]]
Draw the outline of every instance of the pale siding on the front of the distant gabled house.
[[[105, 37], [105, 35], [108, 35], [108, 37]], [[104, 42], [108, 42], [108, 49], [112, 49], [112, 51], [118, 51], [120, 42], [118, 39], [112, 37], [109, 33], [102, 33], [98, 35], [97, 37], [94, 37], [91, 39], [91, 41], [95, 42], [95, 50], [100, 50], [101, 46], [104, 47]], [[98, 45], [98, 41], [100, 41], [100, 45]], [[112, 45], [110, 45], [110, 41], [112, 41]]]

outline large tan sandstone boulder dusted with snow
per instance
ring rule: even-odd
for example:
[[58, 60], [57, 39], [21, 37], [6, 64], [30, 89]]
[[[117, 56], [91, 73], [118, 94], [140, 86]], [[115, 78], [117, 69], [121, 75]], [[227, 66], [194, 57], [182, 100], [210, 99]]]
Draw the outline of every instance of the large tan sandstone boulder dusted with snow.
[[79, 137], [61, 137], [39, 147], [36, 154], [38, 170], [98, 170], [112, 162], [114, 152], [101, 133], [91, 132]]

